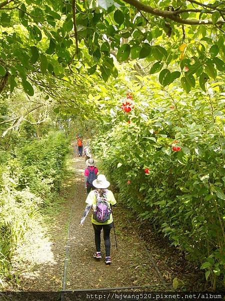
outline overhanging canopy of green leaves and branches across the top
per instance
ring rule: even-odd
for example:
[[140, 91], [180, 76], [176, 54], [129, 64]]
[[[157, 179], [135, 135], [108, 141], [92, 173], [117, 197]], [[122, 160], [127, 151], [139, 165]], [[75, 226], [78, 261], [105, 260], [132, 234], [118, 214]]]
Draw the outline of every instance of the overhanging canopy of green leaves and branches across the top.
[[[117, 78], [115, 59], [147, 61], [162, 87], [219, 80], [224, 1], [7, 0], [0, 3], [0, 92], [60, 86], [86, 92], [91, 75]], [[63, 85], [62, 85], [62, 84]]]

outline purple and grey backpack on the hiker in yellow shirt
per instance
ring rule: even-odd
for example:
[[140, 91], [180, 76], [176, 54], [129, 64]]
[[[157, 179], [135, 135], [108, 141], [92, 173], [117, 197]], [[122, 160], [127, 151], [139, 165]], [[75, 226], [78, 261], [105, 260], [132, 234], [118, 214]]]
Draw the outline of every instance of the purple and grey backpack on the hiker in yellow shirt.
[[96, 222], [104, 223], [110, 218], [111, 209], [107, 202], [105, 193], [100, 197], [98, 192], [95, 190], [96, 195], [96, 208], [93, 211], [93, 219]]

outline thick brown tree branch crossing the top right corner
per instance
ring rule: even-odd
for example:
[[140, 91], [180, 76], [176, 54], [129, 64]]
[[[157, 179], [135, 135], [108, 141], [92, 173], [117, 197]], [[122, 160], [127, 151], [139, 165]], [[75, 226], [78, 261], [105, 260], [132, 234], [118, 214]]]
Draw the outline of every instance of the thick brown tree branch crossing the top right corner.
[[[188, 0], [194, 1], [194, 0]], [[131, 6], [134, 6], [138, 11], [143, 11], [149, 13], [154, 16], [159, 16], [162, 18], [168, 18], [176, 23], [179, 24], [187, 24], [187, 25], [212, 25], [212, 20], [188, 20], [188, 19], [181, 19], [177, 16], [176, 11], [162, 11], [150, 6], [147, 6], [138, 0], [123, 0], [123, 2], [128, 3]], [[194, 2], [195, 3], [195, 2]], [[210, 7], [210, 6], [209, 6]], [[225, 22], [222, 20], [218, 20], [216, 24], [224, 24]]]

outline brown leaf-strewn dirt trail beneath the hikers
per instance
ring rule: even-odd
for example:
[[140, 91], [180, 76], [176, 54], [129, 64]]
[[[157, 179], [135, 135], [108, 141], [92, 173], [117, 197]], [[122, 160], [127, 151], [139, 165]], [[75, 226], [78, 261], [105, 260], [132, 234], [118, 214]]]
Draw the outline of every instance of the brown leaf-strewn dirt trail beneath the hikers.
[[[161, 284], [161, 279], [135, 233], [130, 228], [126, 229], [126, 224], [123, 224], [125, 213], [119, 208], [119, 204], [114, 209], [118, 250], [115, 248], [113, 230], [110, 233], [112, 264], [106, 266], [103, 259], [96, 262], [92, 257], [95, 247], [90, 213], [86, 217], [83, 227], [79, 227], [86, 198], [83, 185], [84, 160], [75, 158], [74, 163], [76, 170], [75, 198], [70, 226], [66, 289]], [[101, 236], [101, 251], [104, 256], [103, 235]]]

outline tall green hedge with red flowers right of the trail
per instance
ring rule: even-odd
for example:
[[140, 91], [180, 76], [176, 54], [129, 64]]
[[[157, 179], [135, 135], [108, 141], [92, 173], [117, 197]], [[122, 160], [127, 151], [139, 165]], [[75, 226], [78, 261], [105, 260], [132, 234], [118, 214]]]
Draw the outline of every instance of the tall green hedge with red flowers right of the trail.
[[129, 83], [130, 112], [121, 100], [104, 110], [92, 147], [119, 199], [206, 269], [215, 289], [224, 272], [224, 93], [214, 87], [184, 98], [174, 86], [141, 80]]

